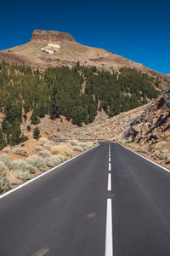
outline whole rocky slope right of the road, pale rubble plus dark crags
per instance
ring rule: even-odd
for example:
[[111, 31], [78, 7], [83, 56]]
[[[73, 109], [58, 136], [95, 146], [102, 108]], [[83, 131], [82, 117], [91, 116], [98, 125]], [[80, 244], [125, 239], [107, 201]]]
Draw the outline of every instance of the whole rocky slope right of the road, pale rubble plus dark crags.
[[111, 119], [99, 113], [93, 124], [59, 132], [65, 137], [116, 141], [170, 168], [170, 89], [142, 107]]

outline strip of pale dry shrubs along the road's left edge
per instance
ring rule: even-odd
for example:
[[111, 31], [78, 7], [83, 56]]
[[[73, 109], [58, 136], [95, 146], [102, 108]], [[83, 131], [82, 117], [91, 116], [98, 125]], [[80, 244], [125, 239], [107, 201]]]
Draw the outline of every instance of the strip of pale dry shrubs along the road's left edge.
[[[51, 144], [51, 142], [44, 137], [42, 137], [40, 141], [41, 143]], [[65, 162], [66, 158], [71, 157], [73, 154], [74, 147], [78, 147], [73, 147], [71, 144], [84, 146], [87, 143], [80, 143], [77, 140], [75, 140], [74, 143], [59, 143], [57, 147], [59, 148], [59, 152], [64, 153], [63, 155], [59, 153], [56, 154], [55, 150], [55, 154], [53, 155], [51, 155], [48, 150], [40, 150], [39, 155], [35, 154], [26, 157], [25, 154], [23, 155], [23, 152], [28, 154], [27, 151], [25, 151], [26, 148], [14, 147], [10, 149], [10, 151], [8, 150], [9, 154], [12, 154], [13, 157], [14, 154], [19, 154], [22, 158], [24, 157], [25, 160], [16, 159], [10, 161], [8, 154], [0, 154], [0, 193], [13, 188], [15, 185], [26, 182], [31, 179], [31, 177], [34, 177], [34, 174], [37, 175], [39, 171], [45, 172], [49, 168], [53, 168]], [[88, 143], [88, 147], [93, 144], [94, 143]], [[54, 148], [52, 145], [51, 147]], [[82, 148], [77, 148], [78, 152], [82, 152], [82, 150]], [[74, 149], [74, 151], [76, 150]]]

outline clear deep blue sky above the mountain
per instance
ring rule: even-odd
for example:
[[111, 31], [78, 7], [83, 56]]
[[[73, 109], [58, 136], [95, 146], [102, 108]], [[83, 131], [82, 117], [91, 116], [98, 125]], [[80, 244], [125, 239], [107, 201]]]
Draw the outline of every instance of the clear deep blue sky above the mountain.
[[170, 73], [169, 13], [166, 0], [2, 1], [0, 49], [27, 43], [34, 29], [56, 30]]

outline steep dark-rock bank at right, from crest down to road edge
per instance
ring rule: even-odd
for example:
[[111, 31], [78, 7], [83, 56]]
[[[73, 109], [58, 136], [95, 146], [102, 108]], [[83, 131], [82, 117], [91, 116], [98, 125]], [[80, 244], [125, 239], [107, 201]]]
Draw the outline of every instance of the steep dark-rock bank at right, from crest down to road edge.
[[133, 119], [124, 137], [135, 150], [170, 166], [170, 89]]

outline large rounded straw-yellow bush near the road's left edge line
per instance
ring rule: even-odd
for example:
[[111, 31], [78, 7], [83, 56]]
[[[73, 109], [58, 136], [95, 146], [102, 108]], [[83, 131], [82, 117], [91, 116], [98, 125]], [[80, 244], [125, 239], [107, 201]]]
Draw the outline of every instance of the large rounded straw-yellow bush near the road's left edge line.
[[51, 148], [52, 154], [61, 154], [65, 157], [72, 157], [72, 148], [66, 143], [59, 143]]

